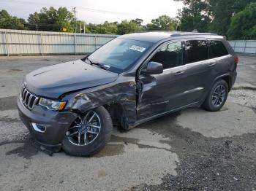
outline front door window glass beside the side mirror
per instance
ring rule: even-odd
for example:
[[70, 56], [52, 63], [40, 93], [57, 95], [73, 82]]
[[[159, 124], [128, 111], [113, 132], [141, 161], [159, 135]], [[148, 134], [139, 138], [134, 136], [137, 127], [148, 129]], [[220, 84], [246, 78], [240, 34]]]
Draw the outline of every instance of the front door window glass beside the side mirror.
[[164, 69], [181, 66], [183, 63], [181, 42], [165, 44], [157, 51], [154, 57], [151, 58], [151, 61], [162, 63]]

